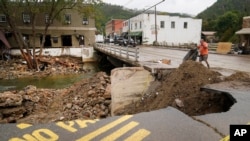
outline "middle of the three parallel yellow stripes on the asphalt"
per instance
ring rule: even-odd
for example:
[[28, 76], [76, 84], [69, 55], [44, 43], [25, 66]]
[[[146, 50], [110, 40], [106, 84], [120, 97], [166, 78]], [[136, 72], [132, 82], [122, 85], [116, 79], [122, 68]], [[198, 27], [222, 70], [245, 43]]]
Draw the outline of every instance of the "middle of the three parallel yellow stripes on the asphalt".
[[119, 130], [117, 130], [116, 132], [113, 132], [109, 136], [103, 138], [101, 141], [114, 141], [114, 140], [118, 139], [120, 136], [122, 136], [123, 134], [125, 134], [126, 132], [128, 132], [129, 130], [133, 129], [137, 125], [139, 125], [138, 122], [132, 121], [129, 124], [123, 126]]

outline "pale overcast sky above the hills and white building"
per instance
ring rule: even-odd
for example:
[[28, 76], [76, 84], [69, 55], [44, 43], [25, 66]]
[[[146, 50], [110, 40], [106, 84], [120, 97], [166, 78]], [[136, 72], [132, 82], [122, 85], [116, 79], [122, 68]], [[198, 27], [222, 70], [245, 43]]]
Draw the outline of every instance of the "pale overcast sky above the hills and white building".
[[[121, 5], [131, 9], [148, 9], [162, 0], [103, 0], [103, 2], [112, 5]], [[213, 5], [217, 0], [165, 0], [157, 5], [157, 11], [170, 13], [186, 13], [196, 16], [206, 8]], [[154, 10], [154, 8], [152, 8]]]

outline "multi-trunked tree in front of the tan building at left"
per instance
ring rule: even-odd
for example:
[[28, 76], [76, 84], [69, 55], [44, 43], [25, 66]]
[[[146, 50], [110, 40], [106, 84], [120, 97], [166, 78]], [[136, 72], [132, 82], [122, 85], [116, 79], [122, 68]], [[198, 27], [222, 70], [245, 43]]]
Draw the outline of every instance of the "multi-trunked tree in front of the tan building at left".
[[[20, 52], [23, 58], [26, 60], [29, 69], [38, 69], [38, 63], [35, 52], [35, 35], [36, 35], [36, 17], [39, 13], [48, 13], [48, 20], [61, 20], [61, 14], [66, 9], [76, 10], [83, 16], [95, 15], [95, 6], [101, 3], [101, 0], [0, 0], [1, 12], [6, 15], [6, 20], [9, 24], [10, 30], [12, 31], [14, 38], [20, 48]], [[24, 36], [17, 26], [17, 13], [20, 11], [26, 11], [31, 17], [32, 27], [32, 42], [23, 40]], [[47, 22], [44, 26], [44, 33], [42, 43], [40, 45], [41, 55], [45, 36], [51, 22]], [[33, 53], [30, 49], [33, 49]]]

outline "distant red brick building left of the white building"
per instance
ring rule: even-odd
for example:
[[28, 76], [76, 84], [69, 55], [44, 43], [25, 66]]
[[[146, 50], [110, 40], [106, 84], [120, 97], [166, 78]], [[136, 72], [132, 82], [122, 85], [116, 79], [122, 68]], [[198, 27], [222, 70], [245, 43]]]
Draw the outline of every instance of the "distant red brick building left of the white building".
[[106, 36], [114, 37], [122, 33], [123, 19], [112, 19], [106, 23]]

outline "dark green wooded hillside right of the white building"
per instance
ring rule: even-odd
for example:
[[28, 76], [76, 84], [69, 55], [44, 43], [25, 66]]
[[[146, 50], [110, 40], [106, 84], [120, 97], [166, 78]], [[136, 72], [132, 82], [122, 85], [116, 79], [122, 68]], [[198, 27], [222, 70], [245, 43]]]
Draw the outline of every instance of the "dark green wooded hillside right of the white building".
[[220, 41], [237, 42], [235, 32], [242, 18], [250, 15], [250, 0], [217, 0], [196, 18], [202, 19], [203, 31], [216, 31]]

